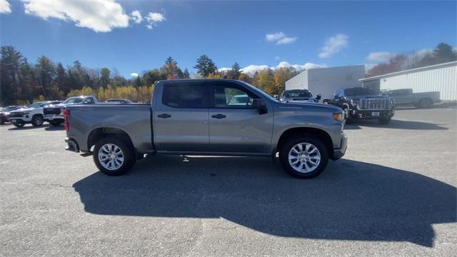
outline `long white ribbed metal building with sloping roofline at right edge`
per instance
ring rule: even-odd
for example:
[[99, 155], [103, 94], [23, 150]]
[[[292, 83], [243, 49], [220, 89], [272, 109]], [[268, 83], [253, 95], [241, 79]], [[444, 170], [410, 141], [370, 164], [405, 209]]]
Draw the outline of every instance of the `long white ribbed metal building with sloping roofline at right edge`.
[[457, 100], [457, 61], [361, 79], [363, 87], [376, 92], [413, 89], [413, 92], [439, 91], [442, 100]]

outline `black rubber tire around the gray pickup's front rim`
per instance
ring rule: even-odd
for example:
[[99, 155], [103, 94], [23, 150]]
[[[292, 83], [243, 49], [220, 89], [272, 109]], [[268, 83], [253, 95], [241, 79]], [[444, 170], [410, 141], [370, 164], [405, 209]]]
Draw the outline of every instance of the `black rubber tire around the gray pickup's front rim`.
[[[321, 160], [318, 163], [318, 166], [310, 172], [299, 172], [296, 171], [292, 166], [291, 163], [288, 161], [288, 154], [289, 151], [292, 150], [294, 146], [298, 143], [311, 143], [318, 149], [318, 152], [321, 154]], [[318, 137], [309, 134], [297, 134], [293, 135], [290, 138], [286, 139], [285, 143], [282, 143], [279, 149], [279, 160], [281, 161], [281, 165], [283, 166], [284, 170], [289, 173], [291, 176], [296, 178], [314, 178], [322, 173], [322, 171], [326, 168], [328, 163], [328, 149], [326, 148], [325, 144], [319, 139]], [[307, 161], [305, 161], [307, 162]], [[304, 165], [304, 163], [303, 163]], [[298, 166], [301, 166], [299, 164]]]

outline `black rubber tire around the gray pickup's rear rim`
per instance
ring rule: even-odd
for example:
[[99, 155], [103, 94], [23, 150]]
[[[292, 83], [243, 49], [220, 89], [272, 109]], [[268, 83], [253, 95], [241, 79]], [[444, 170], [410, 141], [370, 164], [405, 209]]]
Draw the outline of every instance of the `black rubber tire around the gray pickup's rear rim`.
[[[102, 165], [101, 161], [99, 160], [99, 151], [100, 148], [107, 143], [113, 144], [121, 148], [122, 153], [124, 154], [124, 162], [116, 169], [108, 169]], [[115, 136], [107, 136], [105, 138], [101, 138], [94, 147], [94, 162], [97, 168], [103, 173], [108, 176], [120, 176], [131, 169], [136, 162], [136, 155], [134, 146], [131, 143], [126, 143], [121, 138], [117, 138]]]

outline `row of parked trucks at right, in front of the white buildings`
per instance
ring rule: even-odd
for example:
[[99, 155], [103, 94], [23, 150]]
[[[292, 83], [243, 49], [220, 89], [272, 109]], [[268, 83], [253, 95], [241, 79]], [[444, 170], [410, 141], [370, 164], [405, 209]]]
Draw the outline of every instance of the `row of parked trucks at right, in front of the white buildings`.
[[[282, 102], [319, 102], [321, 95], [313, 97], [306, 89], [283, 91], [278, 97]], [[338, 89], [324, 104], [338, 106], [346, 114], [346, 123], [356, 119], [378, 119], [380, 124], [389, 124], [396, 106], [428, 108], [440, 102], [440, 92], [413, 93], [412, 89], [396, 89], [373, 94], [370, 89], [354, 87]]]

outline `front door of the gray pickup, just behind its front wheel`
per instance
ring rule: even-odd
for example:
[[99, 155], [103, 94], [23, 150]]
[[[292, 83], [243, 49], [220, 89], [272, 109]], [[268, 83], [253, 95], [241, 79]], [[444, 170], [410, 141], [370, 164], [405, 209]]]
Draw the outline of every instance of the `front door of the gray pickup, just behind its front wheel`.
[[209, 146], [214, 152], [268, 153], [273, 131], [273, 110], [259, 114], [251, 99], [255, 92], [233, 82], [211, 81]]

